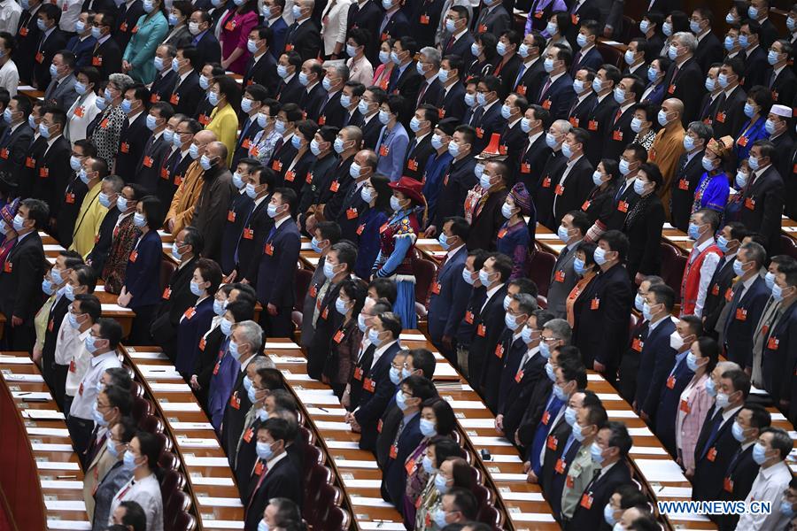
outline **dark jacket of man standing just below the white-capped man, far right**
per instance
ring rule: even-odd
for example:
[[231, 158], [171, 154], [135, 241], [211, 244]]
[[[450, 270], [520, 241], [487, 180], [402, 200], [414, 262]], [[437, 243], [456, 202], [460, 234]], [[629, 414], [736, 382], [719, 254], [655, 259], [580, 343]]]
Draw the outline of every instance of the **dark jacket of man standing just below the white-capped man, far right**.
[[782, 223], [784, 184], [775, 165], [756, 172], [752, 183], [748, 183], [742, 195], [739, 221], [748, 230], [763, 235], [767, 251], [778, 249], [778, 236]]

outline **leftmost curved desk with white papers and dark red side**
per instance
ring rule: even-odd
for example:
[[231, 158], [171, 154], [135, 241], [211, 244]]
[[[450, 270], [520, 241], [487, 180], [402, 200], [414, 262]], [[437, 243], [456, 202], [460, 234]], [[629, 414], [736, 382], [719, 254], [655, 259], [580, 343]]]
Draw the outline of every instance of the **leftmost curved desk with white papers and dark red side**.
[[0, 486], [12, 526], [90, 529], [80, 462], [38, 367], [27, 352], [4, 352], [0, 372]]

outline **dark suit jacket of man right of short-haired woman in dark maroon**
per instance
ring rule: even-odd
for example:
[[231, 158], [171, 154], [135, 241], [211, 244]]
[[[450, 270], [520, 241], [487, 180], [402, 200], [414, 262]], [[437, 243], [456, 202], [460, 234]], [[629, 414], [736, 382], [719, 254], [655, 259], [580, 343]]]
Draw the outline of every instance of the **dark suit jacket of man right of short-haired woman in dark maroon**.
[[[399, 342], [394, 342], [363, 374], [363, 386], [360, 391], [360, 409], [354, 412], [354, 419], [362, 428], [360, 448], [374, 450], [376, 444], [376, 425], [382, 417], [391, 397], [396, 393], [396, 386], [391, 382], [391, 362], [401, 350]], [[373, 358], [372, 358], [373, 359]], [[352, 402], [352, 406], [354, 406]], [[354, 406], [356, 407], [356, 406]]]

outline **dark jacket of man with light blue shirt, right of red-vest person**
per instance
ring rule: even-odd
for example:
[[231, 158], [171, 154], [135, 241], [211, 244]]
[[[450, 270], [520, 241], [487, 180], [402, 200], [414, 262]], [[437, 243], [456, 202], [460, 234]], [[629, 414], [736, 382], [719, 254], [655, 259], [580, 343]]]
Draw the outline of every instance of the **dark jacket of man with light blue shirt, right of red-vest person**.
[[770, 298], [770, 289], [761, 277], [739, 297], [741, 281], [736, 283], [733, 298], [725, 321], [723, 341], [725, 357], [743, 367], [753, 366], [753, 333], [761, 317], [764, 305]]

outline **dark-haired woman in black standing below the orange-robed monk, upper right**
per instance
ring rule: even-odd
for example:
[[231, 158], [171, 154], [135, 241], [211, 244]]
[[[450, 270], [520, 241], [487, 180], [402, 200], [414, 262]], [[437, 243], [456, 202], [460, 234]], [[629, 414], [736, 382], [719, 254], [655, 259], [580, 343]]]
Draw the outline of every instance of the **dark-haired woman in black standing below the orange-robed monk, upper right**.
[[659, 274], [662, 269], [662, 227], [664, 205], [655, 193], [662, 186], [659, 166], [645, 163], [639, 166], [634, 191], [640, 196], [628, 212], [623, 233], [628, 236], [628, 276], [639, 285], [647, 275]]

